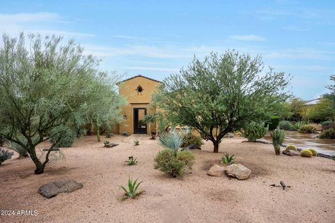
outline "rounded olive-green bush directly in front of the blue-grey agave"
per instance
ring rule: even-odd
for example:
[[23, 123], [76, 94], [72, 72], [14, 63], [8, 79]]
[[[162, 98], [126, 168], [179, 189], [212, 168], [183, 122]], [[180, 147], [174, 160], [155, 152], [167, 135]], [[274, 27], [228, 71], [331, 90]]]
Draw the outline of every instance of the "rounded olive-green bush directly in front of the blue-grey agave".
[[192, 169], [195, 156], [191, 151], [175, 152], [170, 148], [165, 148], [157, 153], [154, 159], [154, 169], [158, 169], [165, 174], [170, 174], [174, 178], [184, 174], [185, 169]]

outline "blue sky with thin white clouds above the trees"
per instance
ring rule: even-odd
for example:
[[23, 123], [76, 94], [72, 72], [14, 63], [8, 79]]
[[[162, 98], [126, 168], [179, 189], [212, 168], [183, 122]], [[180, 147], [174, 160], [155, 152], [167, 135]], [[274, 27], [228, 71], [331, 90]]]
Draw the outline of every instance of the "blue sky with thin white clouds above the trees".
[[193, 56], [237, 49], [318, 98], [335, 75], [335, 1], [0, 1], [0, 32], [74, 39], [101, 70], [162, 80]]

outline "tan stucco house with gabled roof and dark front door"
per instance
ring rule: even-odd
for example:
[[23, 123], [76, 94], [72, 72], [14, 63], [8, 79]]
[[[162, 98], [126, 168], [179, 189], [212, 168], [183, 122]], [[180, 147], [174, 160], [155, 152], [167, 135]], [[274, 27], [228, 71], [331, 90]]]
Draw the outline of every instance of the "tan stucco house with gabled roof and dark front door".
[[151, 96], [160, 84], [158, 80], [142, 75], [117, 83], [119, 95], [126, 98], [128, 105], [122, 107], [121, 114], [124, 116], [124, 121], [114, 126], [114, 133], [150, 134], [151, 131], [156, 131], [156, 124], [146, 125], [142, 120], [146, 114], [155, 112], [151, 105]]

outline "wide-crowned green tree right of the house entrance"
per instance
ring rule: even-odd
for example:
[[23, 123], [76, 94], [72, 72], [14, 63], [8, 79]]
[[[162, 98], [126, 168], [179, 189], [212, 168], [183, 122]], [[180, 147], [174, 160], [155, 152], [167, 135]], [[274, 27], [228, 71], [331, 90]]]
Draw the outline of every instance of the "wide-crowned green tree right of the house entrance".
[[273, 114], [288, 98], [290, 79], [272, 69], [264, 75], [260, 56], [227, 51], [194, 58], [179, 75], [163, 80], [154, 102], [172, 125], [188, 125], [214, 144], [214, 153], [228, 132]]

